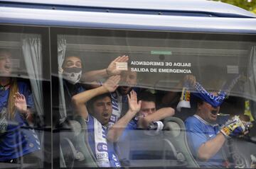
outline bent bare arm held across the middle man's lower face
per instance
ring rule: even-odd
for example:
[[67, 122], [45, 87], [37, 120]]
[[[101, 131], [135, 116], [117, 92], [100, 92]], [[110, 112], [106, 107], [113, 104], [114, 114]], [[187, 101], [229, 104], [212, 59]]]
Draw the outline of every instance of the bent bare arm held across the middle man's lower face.
[[174, 109], [171, 107], [161, 108], [156, 112], [152, 113], [151, 115], [147, 115], [146, 117], [140, 117], [138, 127], [146, 129], [151, 122], [163, 120], [166, 117], [173, 116], [174, 113]]

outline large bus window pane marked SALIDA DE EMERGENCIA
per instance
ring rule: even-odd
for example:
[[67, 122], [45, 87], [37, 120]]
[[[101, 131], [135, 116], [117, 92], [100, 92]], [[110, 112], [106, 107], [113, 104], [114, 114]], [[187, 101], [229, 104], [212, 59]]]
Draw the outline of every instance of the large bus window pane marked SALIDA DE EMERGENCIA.
[[56, 30], [61, 167], [253, 163], [250, 36]]

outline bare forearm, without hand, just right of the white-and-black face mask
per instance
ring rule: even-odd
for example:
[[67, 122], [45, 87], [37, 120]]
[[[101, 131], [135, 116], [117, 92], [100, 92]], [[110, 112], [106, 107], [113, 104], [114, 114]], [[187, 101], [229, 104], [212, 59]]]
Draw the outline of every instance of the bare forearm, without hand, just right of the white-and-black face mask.
[[109, 75], [107, 74], [107, 69], [100, 69], [95, 71], [88, 71], [82, 74], [81, 81], [82, 82], [90, 82], [90, 81], [97, 81], [100, 78], [106, 78]]

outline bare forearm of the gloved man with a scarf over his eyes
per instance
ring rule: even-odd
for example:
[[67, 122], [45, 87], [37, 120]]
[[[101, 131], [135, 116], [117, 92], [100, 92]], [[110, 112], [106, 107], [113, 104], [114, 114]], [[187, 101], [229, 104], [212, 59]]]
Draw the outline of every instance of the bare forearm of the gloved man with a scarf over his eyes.
[[225, 136], [221, 133], [217, 134], [214, 139], [206, 141], [198, 148], [198, 158], [202, 161], [208, 161], [215, 156], [225, 143]]

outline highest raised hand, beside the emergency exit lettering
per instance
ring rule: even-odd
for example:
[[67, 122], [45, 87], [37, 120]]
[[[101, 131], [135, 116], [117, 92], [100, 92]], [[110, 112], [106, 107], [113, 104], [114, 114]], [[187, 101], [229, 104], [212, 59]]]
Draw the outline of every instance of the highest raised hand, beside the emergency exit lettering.
[[121, 74], [122, 70], [117, 70], [117, 62], [127, 62], [128, 59], [129, 57], [126, 55], [123, 55], [122, 57], [117, 57], [116, 59], [114, 59], [106, 69], [107, 74], [109, 76]]

